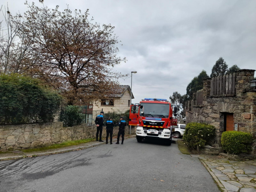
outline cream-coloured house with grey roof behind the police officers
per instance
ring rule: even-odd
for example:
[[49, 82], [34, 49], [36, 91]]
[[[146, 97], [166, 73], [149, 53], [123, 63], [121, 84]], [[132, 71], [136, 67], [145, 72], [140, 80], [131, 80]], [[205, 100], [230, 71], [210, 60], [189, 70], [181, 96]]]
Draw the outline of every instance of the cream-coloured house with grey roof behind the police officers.
[[[129, 110], [131, 105], [131, 94], [131, 88], [129, 85], [120, 85], [120, 89], [112, 94], [110, 98], [93, 102], [92, 118], [100, 114], [102, 110], [104, 111], [104, 113], [123, 113]], [[133, 94], [132, 98], [134, 99]]]

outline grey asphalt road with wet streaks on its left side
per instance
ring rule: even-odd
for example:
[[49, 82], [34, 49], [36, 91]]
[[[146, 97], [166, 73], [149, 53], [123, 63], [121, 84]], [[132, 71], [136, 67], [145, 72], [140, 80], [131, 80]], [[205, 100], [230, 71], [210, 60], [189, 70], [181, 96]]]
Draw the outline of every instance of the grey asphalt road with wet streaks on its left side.
[[[153, 141], [0, 162], [0, 191], [219, 191], [198, 158]], [[162, 181], [161, 181], [162, 180]]]

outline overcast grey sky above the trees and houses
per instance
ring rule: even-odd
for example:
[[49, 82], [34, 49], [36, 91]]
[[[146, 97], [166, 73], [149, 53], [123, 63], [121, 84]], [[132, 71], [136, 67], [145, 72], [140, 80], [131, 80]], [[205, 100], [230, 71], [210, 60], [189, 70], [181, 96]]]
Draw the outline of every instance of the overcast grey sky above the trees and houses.
[[[0, 5], [7, 2], [11, 13], [27, 9], [22, 0], [1, 0]], [[133, 74], [133, 103], [169, 99], [175, 91], [185, 94], [193, 77], [202, 70], [210, 75], [219, 57], [228, 67], [256, 69], [255, 0], [44, 0], [60, 10], [66, 4], [71, 10], [89, 9], [94, 22], [115, 26], [123, 44], [118, 55], [127, 58], [115, 69], [138, 72]], [[131, 78], [120, 82], [131, 86]]]

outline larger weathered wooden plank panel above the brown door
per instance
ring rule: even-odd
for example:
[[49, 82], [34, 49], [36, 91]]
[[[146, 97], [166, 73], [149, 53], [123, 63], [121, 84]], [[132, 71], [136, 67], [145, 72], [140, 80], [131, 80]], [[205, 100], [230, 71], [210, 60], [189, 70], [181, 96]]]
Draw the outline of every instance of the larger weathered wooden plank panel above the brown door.
[[211, 80], [211, 96], [235, 94], [236, 73], [212, 77]]

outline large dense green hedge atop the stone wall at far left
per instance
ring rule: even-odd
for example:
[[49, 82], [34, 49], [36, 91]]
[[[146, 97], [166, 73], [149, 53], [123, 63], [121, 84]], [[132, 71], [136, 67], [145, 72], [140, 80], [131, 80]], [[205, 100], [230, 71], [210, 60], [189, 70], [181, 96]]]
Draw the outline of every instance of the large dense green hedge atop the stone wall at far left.
[[19, 74], [0, 74], [0, 90], [0, 124], [53, 121], [62, 100], [37, 79]]

